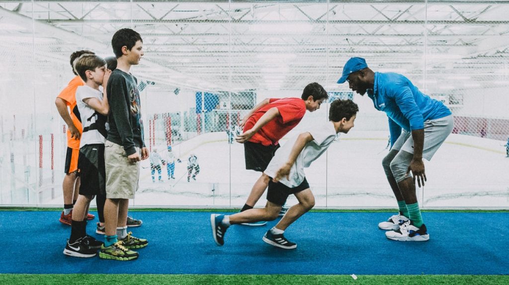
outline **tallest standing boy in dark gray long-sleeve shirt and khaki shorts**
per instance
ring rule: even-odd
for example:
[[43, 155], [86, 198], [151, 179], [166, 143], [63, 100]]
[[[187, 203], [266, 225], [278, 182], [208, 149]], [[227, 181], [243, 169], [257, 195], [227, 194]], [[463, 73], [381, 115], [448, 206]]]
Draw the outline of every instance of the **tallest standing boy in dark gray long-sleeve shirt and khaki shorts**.
[[112, 260], [134, 260], [138, 253], [131, 248], [148, 244], [127, 233], [129, 199], [138, 188], [140, 161], [149, 157], [143, 141], [137, 81], [130, 74], [132, 65], [143, 56], [143, 40], [136, 31], [123, 28], [111, 39], [117, 56], [117, 69], [111, 73], [107, 85], [109, 102], [109, 130], [104, 144], [106, 170], [106, 203], [104, 219], [106, 235], [99, 257]]

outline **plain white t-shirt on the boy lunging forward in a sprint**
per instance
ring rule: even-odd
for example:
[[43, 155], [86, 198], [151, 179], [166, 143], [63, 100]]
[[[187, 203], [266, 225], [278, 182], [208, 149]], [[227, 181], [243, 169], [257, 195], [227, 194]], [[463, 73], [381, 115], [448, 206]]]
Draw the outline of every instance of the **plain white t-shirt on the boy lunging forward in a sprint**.
[[[304, 167], [309, 167], [309, 165], [318, 159], [318, 157], [320, 157], [320, 155], [322, 155], [338, 137], [336, 130], [334, 129], [334, 124], [330, 121], [326, 124], [310, 129], [307, 132], [313, 136], [313, 140], [308, 142], [297, 156], [297, 160], [290, 169], [290, 180], [286, 177], [279, 180], [279, 182], [290, 188], [297, 187], [300, 183], [302, 183], [302, 181], [304, 181]], [[290, 157], [290, 152], [292, 151], [298, 136], [299, 135], [292, 137], [285, 143], [285, 145], [276, 150], [274, 157], [272, 157], [267, 169], [264, 171], [265, 174], [269, 177], [274, 177], [276, 172], [287, 163], [288, 157]]]

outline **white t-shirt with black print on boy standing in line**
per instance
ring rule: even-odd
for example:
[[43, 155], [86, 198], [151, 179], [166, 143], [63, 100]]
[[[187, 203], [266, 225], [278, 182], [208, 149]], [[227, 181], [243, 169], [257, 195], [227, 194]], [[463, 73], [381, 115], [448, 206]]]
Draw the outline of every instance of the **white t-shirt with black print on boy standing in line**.
[[[79, 86], [76, 89], [76, 106], [81, 117], [83, 130], [90, 128], [91, 124], [96, 123], [99, 116], [104, 116], [96, 113], [92, 107], [83, 102], [83, 99], [87, 98], [97, 98], [99, 102], [102, 102], [102, 92], [87, 85]], [[106, 123], [105, 120], [102, 120], [102, 122]], [[104, 128], [104, 126], [101, 126], [101, 128]], [[98, 130], [89, 130], [81, 135], [79, 147], [87, 144], [104, 144], [105, 141], [106, 137], [101, 135]]]

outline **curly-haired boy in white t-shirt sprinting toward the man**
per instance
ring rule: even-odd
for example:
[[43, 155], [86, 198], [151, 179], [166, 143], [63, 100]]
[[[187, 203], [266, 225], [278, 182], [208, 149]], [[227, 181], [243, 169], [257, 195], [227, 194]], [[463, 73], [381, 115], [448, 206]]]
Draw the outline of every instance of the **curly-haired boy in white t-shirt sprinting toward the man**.
[[310, 128], [280, 147], [264, 171], [271, 178], [265, 208], [249, 209], [233, 215], [211, 214], [212, 235], [217, 245], [224, 244], [224, 233], [230, 225], [276, 219], [288, 196], [293, 194], [299, 203], [288, 209], [279, 223], [267, 231], [263, 241], [285, 249], [296, 248], [297, 244], [287, 240], [283, 233], [315, 206], [315, 197], [306, 181], [304, 168], [327, 150], [338, 133], [346, 134], [353, 128], [358, 111], [353, 101], [336, 100], [330, 104], [329, 122]]

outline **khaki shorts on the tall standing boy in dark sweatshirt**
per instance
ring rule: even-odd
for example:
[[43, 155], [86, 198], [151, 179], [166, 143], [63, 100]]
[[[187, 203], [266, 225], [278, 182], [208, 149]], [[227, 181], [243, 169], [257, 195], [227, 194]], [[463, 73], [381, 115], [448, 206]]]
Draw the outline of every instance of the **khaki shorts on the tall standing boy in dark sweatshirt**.
[[[136, 147], [139, 152], [139, 148]], [[124, 147], [110, 141], [104, 143], [106, 198], [134, 199], [138, 189], [140, 163], [127, 159]]]

